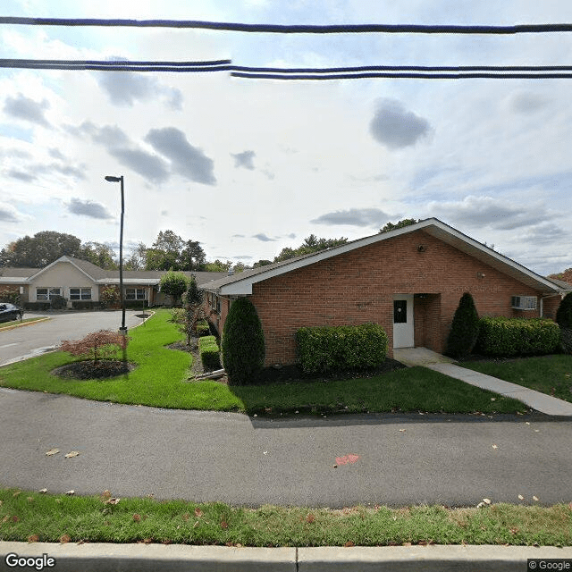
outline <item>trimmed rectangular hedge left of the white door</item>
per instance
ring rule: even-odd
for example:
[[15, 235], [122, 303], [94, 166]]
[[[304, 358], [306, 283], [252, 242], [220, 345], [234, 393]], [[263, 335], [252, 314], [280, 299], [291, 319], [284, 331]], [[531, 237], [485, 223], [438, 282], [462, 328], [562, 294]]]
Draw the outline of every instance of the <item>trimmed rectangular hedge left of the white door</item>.
[[379, 324], [300, 328], [296, 342], [307, 374], [369, 369], [387, 356], [387, 334]]

